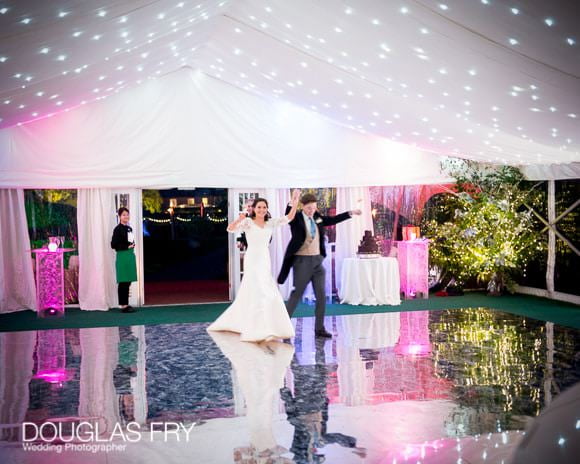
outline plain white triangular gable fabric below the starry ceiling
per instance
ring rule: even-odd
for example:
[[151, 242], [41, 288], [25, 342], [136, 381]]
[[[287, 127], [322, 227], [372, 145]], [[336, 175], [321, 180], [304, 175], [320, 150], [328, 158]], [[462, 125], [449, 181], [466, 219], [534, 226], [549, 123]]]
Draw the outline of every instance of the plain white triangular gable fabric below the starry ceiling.
[[439, 162], [186, 68], [0, 131], [0, 187], [429, 184]]

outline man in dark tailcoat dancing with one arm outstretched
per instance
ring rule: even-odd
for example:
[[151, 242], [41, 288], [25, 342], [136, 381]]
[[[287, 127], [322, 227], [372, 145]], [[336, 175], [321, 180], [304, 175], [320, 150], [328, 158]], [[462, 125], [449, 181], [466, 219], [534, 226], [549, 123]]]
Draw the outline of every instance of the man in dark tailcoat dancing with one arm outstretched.
[[[284, 255], [278, 283], [283, 284], [288, 278], [290, 269], [293, 269], [294, 290], [292, 290], [286, 303], [288, 315], [292, 317], [308, 282], [312, 282], [316, 297], [314, 333], [317, 337], [330, 338], [332, 334], [324, 328], [324, 312], [326, 310], [325, 270], [322, 266], [322, 261], [326, 257], [324, 227], [346, 221], [353, 214], [361, 214], [361, 211], [357, 209], [336, 216], [322, 216], [316, 211], [316, 197], [311, 193], [302, 195], [300, 203], [302, 203], [302, 212], [296, 213], [290, 222], [292, 238]], [[290, 205], [286, 207], [286, 214], [289, 210]]]

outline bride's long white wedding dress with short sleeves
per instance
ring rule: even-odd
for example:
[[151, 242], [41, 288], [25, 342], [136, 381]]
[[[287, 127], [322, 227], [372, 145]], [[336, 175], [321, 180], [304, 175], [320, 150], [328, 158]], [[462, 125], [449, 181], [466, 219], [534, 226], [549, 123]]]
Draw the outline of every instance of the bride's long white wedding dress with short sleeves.
[[272, 277], [268, 249], [272, 230], [286, 224], [286, 216], [270, 219], [264, 227], [246, 218], [233, 231], [245, 232], [248, 241], [244, 256], [244, 277], [234, 302], [207, 330], [237, 332], [240, 340], [245, 342], [294, 336], [286, 305]]

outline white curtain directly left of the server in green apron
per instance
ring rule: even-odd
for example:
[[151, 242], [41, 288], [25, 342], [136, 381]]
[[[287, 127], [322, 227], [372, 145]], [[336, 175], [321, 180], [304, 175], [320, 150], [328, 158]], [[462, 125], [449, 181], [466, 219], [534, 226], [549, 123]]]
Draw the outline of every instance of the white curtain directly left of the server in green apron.
[[115, 252], [111, 236], [115, 222], [113, 193], [109, 189], [79, 189], [79, 305], [107, 311], [117, 305]]

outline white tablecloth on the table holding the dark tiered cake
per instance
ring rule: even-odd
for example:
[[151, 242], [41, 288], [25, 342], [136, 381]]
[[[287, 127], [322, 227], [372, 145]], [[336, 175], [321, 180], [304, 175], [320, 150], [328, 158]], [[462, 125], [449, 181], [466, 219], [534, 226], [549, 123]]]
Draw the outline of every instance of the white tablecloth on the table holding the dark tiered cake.
[[345, 258], [342, 262], [341, 303], [399, 305], [400, 286], [396, 258]]

